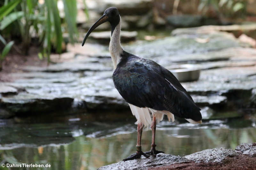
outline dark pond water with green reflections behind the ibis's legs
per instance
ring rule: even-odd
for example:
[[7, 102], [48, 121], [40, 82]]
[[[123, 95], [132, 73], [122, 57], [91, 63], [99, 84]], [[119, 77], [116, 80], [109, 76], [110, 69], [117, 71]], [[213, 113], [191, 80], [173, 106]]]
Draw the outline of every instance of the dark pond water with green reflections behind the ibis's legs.
[[[256, 142], [252, 120], [210, 120], [201, 125], [162, 121], [156, 129], [157, 149], [180, 156], [215, 147], [235, 149], [241, 143]], [[6, 124], [0, 126], [0, 163], [48, 163], [51, 168], [45, 169], [90, 170], [135, 152], [136, 125], [131, 121], [84, 123], [76, 118], [66, 123]], [[143, 151], [150, 145], [151, 130], [145, 130]]]

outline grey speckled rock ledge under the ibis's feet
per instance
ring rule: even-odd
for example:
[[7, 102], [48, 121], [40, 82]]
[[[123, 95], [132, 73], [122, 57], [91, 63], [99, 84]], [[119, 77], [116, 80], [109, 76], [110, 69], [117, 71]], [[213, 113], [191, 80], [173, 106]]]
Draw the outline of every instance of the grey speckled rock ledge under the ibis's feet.
[[[168, 155], [164, 153], [160, 153], [156, 156], [156, 158], [150, 157], [142, 159], [135, 159], [130, 161], [121, 161], [115, 164], [102, 166], [98, 168], [98, 170], [132, 170], [132, 169], [165, 169], [165, 168], [174, 168], [175, 165], [178, 166], [193, 166], [196, 169], [197, 166], [205, 167], [206, 169], [212, 167], [217, 168], [217, 166], [225, 164], [225, 166], [236, 166], [235, 161], [239, 159], [239, 157], [249, 156], [251, 164], [254, 165], [256, 163], [256, 143], [247, 144], [243, 143], [236, 147], [236, 150], [226, 149], [226, 148], [214, 148], [214, 149], [206, 149], [204, 151], [196, 152], [185, 157], [179, 157], [174, 155]], [[233, 159], [236, 158], [236, 159]], [[245, 158], [246, 160], [246, 158]], [[193, 164], [193, 165], [192, 165]], [[201, 165], [203, 164], [203, 165]], [[173, 167], [170, 167], [173, 165]], [[249, 163], [248, 168], [254, 168]], [[201, 168], [202, 168], [201, 167]], [[247, 167], [246, 167], [247, 168]], [[256, 168], [256, 164], [255, 164]]]

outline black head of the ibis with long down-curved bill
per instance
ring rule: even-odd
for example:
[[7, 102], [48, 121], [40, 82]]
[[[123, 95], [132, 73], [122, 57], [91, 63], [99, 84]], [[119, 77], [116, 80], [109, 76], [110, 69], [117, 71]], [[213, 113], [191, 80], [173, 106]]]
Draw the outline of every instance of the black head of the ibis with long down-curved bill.
[[120, 15], [119, 15], [119, 12], [116, 7], [110, 7], [104, 11], [102, 17], [100, 17], [100, 19], [98, 19], [86, 33], [86, 35], [84, 37], [84, 41], [82, 43], [82, 46], [84, 46], [84, 43], [85, 43], [86, 39], [88, 38], [88, 36], [90, 35], [90, 33], [92, 33], [92, 31], [95, 28], [97, 28], [99, 25], [101, 25], [107, 21], [109, 21], [111, 24], [111, 36], [112, 36], [112, 33], [113, 33], [115, 27], [120, 22]]

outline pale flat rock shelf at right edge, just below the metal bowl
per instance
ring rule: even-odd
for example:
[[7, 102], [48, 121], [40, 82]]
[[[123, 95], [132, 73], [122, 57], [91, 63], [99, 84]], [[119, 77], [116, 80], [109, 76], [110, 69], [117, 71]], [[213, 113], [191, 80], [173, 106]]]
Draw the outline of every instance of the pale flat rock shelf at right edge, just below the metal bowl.
[[223, 93], [224, 95], [225, 93], [228, 96], [228, 94], [233, 93], [232, 89], [236, 89], [236, 92], [241, 92], [242, 96], [244, 92], [251, 94], [252, 89], [256, 88], [252, 83], [254, 80], [248, 78], [249, 75], [255, 74], [255, 72], [254, 66], [202, 70], [197, 82], [186, 82], [182, 85], [188, 92], [195, 94], [204, 95], [220, 92], [220, 94]]

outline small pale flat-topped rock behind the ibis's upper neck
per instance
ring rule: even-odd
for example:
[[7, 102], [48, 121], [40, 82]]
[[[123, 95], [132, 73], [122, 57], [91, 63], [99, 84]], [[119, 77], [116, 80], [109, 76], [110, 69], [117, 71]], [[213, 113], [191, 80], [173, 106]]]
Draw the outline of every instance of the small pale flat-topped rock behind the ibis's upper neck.
[[[94, 32], [91, 33], [90, 38], [99, 42], [100, 44], [109, 44], [110, 41], [110, 31], [104, 31], [104, 32]], [[129, 41], [135, 41], [138, 33], [136, 31], [122, 31], [121, 32], [121, 41], [122, 42], [129, 42]]]

